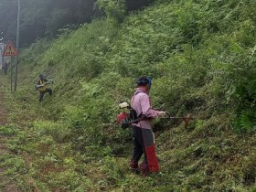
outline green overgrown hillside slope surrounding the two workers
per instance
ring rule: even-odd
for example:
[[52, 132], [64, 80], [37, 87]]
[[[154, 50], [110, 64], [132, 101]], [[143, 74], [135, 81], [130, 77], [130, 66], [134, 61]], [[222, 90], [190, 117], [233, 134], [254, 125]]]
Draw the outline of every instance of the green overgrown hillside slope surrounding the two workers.
[[[159, 0], [122, 22], [113, 15], [37, 41], [22, 50], [5, 103], [13, 123], [1, 133], [13, 135], [15, 155], [1, 162], [18, 165], [7, 174], [25, 190], [256, 190], [255, 27], [255, 1]], [[54, 95], [38, 103], [41, 72]], [[153, 78], [156, 109], [195, 117], [187, 129], [155, 121], [162, 171], [146, 178], [128, 168], [131, 131], [115, 125], [141, 75]]]

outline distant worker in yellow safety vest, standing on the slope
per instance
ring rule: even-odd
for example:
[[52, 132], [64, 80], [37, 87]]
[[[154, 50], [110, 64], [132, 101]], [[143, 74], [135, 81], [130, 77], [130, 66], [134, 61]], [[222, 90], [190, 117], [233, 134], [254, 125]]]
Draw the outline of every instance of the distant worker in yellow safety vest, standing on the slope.
[[39, 75], [39, 80], [37, 80], [36, 84], [36, 88], [39, 91], [39, 101], [43, 101], [46, 92], [48, 92], [49, 95], [52, 95], [52, 90], [47, 88], [49, 83], [53, 83], [53, 80], [45, 79], [44, 74]]

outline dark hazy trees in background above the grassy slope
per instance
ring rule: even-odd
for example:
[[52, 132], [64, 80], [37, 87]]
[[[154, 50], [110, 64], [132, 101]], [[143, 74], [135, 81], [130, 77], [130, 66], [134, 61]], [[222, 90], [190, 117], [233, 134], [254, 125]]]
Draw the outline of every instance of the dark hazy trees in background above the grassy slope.
[[[101, 16], [99, 8], [117, 22], [122, 22], [128, 11], [149, 5], [154, 0], [21, 0], [20, 47], [26, 47], [40, 37], [55, 37], [60, 28], [78, 27]], [[95, 6], [95, 5], [99, 6]], [[1, 0], [0, 23], [5, 39], [16, 40], [16, 0]]]

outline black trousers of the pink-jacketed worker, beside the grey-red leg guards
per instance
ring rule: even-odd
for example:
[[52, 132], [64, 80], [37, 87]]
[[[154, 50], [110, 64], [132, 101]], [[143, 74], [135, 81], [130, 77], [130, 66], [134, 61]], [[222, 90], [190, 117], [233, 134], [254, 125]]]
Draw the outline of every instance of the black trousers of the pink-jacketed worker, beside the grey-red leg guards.
[[140, 127], [133, 126], [133, 157], [132, 162], [138, 163], [144, 155], [144, 164], [147, 164], [147, 158], [144, 147], [144, 136]]

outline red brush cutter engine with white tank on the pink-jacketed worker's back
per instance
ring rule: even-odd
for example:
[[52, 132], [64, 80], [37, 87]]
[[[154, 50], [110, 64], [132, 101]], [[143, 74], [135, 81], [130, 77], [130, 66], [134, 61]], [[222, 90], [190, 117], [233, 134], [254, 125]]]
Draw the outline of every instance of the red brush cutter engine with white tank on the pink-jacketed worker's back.
[[[137, 115], [137, 112], [133, 110], [130, 104], [128, 102], [123, 102], [119, 104], [119, 107], [123, 109], [123, 112], [120, 112], [117, 115], [117, 124], [121, 124], [121, 127], [123, 129], [128, 128], [129, 126], [132, 126], [132, 123], [139, 123], [140, 118]], [[125, 112], [128, 111], [128, 112]]]

